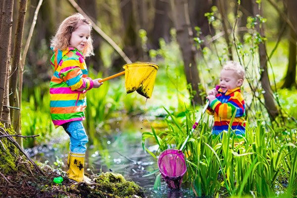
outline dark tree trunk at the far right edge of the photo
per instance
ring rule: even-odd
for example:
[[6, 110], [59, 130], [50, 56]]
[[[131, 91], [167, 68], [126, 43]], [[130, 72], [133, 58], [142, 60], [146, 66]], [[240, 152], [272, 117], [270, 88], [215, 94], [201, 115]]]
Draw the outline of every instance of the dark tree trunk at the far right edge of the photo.
[[293, 24], [295, 29], [290, 27], [290, 37], [289, 37], [289, 64], [285, 77], [285, 82], [282, 88], [291, 88], [296, 86], [296, 55], [297, 55], [297, 1], [287, 0], [287, 9], [289, 20]]

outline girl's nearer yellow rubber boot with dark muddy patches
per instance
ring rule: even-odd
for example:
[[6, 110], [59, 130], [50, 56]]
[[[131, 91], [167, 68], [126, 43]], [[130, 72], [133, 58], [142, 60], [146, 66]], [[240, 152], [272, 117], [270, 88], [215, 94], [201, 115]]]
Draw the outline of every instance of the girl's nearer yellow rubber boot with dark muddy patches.
[[68, 178], [77, 182], [84, 181], [85, 154], [70, 152], [69, 156]]

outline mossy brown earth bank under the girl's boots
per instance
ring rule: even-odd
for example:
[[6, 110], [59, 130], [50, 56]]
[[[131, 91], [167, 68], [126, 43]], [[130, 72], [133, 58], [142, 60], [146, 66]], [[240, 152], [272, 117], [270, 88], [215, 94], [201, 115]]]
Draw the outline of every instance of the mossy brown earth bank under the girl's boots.
[[[17, 171], [0, 172], [0, 198], [143, 198], [143, 189], [121, 174], [89, 175], [94, 184], [70, 181], [65, 172], [38, 164], [42, 174], [28, 160], [18, 159]], [[55, 184], [53, 178], [63, 182]]]

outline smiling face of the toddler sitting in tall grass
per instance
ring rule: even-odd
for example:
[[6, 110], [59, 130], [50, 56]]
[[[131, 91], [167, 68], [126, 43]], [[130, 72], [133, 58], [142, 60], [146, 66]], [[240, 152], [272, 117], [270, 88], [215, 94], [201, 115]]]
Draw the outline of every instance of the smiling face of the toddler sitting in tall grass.
[[220, 88], [223, 92], [240, 87], [243, 79], [239, 79], [234, 70], [222, 69], [220, 76]]

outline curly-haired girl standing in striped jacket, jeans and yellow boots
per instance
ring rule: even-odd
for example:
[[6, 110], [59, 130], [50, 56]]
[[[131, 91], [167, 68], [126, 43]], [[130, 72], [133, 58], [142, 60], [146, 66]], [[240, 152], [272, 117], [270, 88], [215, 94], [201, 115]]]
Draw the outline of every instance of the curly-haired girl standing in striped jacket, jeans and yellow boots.
[[70, 137], [68, 178], [88, 182], [84, 176], [84, 159], [88, 136], [82, 121], [87, 106], [86, 93], [99, 88], [100, 79], [88, 77], [85, 57], [93, 54], [92, 25], [80, 13], [67, 17], [51, 40], [50, 114], [54, 126], [62, 126]]

